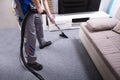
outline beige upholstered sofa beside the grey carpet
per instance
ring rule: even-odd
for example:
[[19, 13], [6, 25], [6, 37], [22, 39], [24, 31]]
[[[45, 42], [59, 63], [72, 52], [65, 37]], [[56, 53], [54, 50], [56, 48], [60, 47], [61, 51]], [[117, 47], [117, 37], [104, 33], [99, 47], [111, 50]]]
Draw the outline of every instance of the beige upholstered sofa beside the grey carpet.
[[80, 39], [104, 80], [120, 80], [120, 9], [114, 18], [90, 19], [80, 26]]

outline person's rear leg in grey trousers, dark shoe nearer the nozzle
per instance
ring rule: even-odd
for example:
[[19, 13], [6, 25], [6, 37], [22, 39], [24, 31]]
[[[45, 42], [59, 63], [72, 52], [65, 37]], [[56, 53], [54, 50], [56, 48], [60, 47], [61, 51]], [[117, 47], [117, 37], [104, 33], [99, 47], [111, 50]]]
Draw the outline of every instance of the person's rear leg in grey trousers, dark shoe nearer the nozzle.
[[38, 39], [38, 42], [39, 42], [39, 45], [40, 45], [40, 49], [51, 45], [51, 41], [45, 41], [44, 40], [42, 18], [38, 14], [36, 14], [36, 17], [35, 17], [35, 26], [36, 26], [36, 34], [37, 34], [37, 39]]

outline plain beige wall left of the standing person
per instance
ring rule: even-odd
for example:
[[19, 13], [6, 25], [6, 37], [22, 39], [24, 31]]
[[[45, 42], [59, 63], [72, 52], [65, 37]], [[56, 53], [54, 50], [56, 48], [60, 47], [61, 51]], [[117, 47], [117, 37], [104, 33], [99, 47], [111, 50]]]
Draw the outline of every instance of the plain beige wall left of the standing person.
[[12, 12], [12, 0], [0, 0], [0, 28], [17, 25], [16, 17]]

